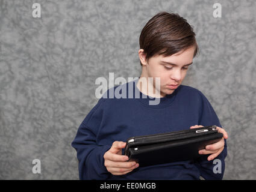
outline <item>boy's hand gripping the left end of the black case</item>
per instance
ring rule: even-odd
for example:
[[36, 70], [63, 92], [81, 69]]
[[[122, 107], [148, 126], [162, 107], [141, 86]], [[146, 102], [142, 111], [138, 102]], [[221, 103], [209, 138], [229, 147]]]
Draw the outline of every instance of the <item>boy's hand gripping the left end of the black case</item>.
[[125, 175], [139, 167], [138, 163], [128, 161], [128, 156], [122, 155], [122, 148], [125, 148], [125, 145], [125, 142], [114, 141], [111, 148], [103, 156], [104, 165], [112, 175]]

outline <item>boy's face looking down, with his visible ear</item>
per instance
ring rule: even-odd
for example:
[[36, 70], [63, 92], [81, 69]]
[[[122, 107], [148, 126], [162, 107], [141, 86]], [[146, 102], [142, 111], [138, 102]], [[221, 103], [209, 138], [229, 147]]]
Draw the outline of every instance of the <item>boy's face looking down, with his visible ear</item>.
[[161, 90], [157, 91], [160, 91], [161, 97], [164, 97], [166, 94], [172, 94], [183, 82], [188, 67], [193, 62], [194, 49], [195, 47], [190, 47], [167, 57], [157, 55], [149, 58], [148, 62], [143, 59], [145, 58], [143, 56], [143, 49], [140, 49], [139, 56], [143, 65], [141, 77], [153, 77], [154, 87], [154, 77], [160, 77]]

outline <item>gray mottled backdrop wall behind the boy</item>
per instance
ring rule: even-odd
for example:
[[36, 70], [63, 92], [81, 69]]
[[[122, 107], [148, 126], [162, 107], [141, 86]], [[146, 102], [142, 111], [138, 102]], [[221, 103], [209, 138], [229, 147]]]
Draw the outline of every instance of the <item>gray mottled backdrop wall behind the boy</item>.
[[[205, 94], [229, 134], [223, 179], [256, 179], [254, 0], [6, 0], [0, 8], [0, 179], [78, 179], [70, 143], [98, 101], [95, 80], [140, 76], [139, 35], [159, 11], [195, 28], [201, 54], [184, 85]], [[32, 172], [36, 158], [41, 174]]]

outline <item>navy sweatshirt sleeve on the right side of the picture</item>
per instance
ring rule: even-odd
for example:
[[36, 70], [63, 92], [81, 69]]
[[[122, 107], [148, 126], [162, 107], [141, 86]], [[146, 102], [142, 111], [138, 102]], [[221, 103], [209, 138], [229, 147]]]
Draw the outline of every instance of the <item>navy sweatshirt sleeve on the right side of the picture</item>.
[[[210, 102], [207, 98], [200, 93], [202, 98], [202, 113], [199, 119], [198, 125], [210, 126], [216, 125], [217, 127], [221, 127], [219, 122], [219, 118], [217, 117], [216, 113], [213, 110]], [[225, 157], [227, 155], [227, 146], [226, 146], [226, 139], [224, 139], [225, 145], [223, 151], [216, 157], [214, 160], [208, 161], [207, 157], [210, 154], [202, 155], [202, 157], [198, 158], [196, 162], [196, 166], [201, 173], [202, 178], [204, 179], [222, 179], [224, 170], [225, 170]]]

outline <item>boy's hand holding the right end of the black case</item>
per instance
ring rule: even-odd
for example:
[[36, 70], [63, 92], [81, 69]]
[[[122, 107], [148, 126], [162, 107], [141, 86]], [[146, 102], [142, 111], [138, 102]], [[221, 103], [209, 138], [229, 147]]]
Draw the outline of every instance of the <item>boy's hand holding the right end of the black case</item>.
[[[204, 126], [194, 125], [194, 126], [191, 126], [190, 128], [199, 128], [199, 127], [204, 127]], [[205, 146], [205, 149], [202, 149], [199, 151], [199, 154], [202, 154], [202, 155], [211, 154], [207, 158], [208, 161], [214, 160], [214, 158], [216, 158], [223, 151], [224, 145], [225, 145], [224, 139], [228, 139], [228, 134], [223, 128], [216, 127], [216, 129], [218, 130], [219, 133], [223, 134], [222, 139], [217, 143], [213, 143], [211, 145]]]

